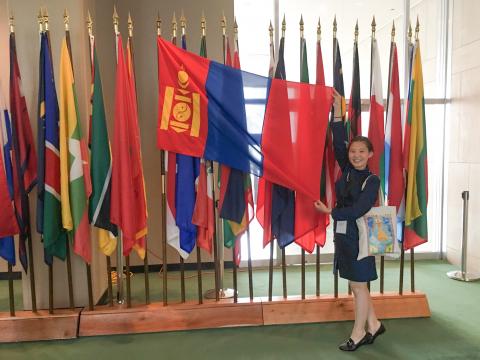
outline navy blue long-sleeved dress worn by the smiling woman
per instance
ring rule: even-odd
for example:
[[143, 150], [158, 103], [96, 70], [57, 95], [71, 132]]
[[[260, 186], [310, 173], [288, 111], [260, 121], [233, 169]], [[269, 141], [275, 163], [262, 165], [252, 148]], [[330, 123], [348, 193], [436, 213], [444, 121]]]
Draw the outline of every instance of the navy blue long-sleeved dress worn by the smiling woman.
[[[350, 164], [343, 123], [332, 123], [332, 131], [335, 159], [342, 169], [342, 176], [335, 183], [337, 204], [332, 210], [332, 218], [335, 220], [334, 272], [338, 270], [340, 277], [351, 281], [376, 280], [375, 257], [368, 256], [360, 261], [357, 260], [359, 242], [356, 220], [375, 205], [380, 179], [376, 175], [369, 177], [372, 173], [368, 168], [356, 170]], [[362, 190], [362, 184], [367, 178], [368, 180]], [[345, 223], [340, 224], [340, 221], [346, 221], [346, 229]]]

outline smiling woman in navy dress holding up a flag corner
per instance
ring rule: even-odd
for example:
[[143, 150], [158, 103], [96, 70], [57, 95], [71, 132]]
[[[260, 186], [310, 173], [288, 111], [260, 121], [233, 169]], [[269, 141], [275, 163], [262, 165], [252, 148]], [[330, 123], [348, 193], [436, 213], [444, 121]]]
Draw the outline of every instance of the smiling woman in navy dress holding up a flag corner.
[[355, 323], [350, 338], [339, 346], [340, 350], [355, 351], [364, 344], [372, 344], [375, 338], [385, 332], [373, 308], [369, 281], [377, 279], [373, 256], [357, 260], [359, 237], [356, 220], [367, 213], [377, 200], [380, 179], [368, 169], [368, 160], [373, 156], [373, 146], [364, 136], [356, 136], [346, 146], [347, 138], [342, 122], [340, 95], [334, 95], [334, 120], [331, 124], [335, 158], [342, 169], [342, 175], [335, 184], [337, 203], [335, 208], [327, 207], [320, 200], [315, 208], [331, 214], [335, 220], [334, 272], [349, 280], [355, 297]]

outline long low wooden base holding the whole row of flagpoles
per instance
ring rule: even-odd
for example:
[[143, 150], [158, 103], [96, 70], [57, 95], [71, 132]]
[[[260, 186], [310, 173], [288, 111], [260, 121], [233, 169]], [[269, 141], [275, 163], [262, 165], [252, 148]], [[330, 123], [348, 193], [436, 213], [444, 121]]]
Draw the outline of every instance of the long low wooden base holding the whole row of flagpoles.
[[[425, 294], [420, 292], [372, 293], [380, 319], [429, 317]], [[101, 306], [94, 311], [17, 312], [16, 317], [0, 313], [0, 342], [71, 339], [81, 336], [134, 334], [234, 326], [260, 326], [353, 320], [353, 297], [332, 295], [300, 297], [206, 300], [184, 304], [162, 303]]]

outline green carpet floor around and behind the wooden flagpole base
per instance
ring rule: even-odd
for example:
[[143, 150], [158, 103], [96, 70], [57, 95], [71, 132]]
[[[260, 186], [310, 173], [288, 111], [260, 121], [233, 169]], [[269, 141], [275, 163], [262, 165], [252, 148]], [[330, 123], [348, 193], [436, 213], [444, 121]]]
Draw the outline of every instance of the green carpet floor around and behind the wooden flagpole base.
[[[408, 266], [408, 265], [407, 265]], [[374, 345], [355, 353], [343, 353], [337, 345], [348, 337], [352, 322], [222, 328], [169, 333], [121, 335], [0, 345], [0, 359], [480, 359], [480, 283], [450, 280], [454, 269], [442, 261], [416, 263], [416, 287], [427, 293], [432, 317], [386, 320], [387, 333]], [[406, 267], [408, 270], [408, 267]], [[197, 296], [194, 272], [187, 280], [187, 298]], [[398, 263], [388, 262], [385, 289], [398, 286]], [[133, 298], [142, 302], [143, 276], [133, 277]], [[255, 296], [266, 295], [268, 272], [254, 273]], [[409, 272], [405, 273], [406, 290]], [[288, 269], [289, 293], [300, 289], [300, 269]], [[225, 275], [231, 286], [231, 274]], [[308, 268], [307, 293], [315, 289], [314, 269]], [[159, 274], [150, 275], [153, 301], [161, 298]], [[322, 267], [322, 293], [332, 291], [330, 267]], [[213, 286], [213, 276], [204, 278], [204, 290]], [[19, 286], [17, 286], [18, 288]], [[275, 294], [281, 294], [281, 272], [275, 273]], [[372, 285], [378, 289], [378, 281]], [[0, 281], [0, 305], [8, 309], [7, 282]], [[345, 292], [346, 282], [340, 281]], [[20, 290], [19, 290], [20, 291]], [[177, 273], [169, 274], [169, 298], [178, 299]], [[239, 275], [240, 296], [248, 296], [246, 272]], [[6, 306], [5, 306], [6, 305]]]

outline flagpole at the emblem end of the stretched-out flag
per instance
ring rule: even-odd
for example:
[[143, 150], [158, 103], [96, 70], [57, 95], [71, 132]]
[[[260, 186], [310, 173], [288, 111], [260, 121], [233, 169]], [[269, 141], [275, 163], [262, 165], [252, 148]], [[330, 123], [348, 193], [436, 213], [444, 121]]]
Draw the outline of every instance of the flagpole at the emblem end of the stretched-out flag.
[[[162, 36], [162, 20], [160, 19], [160, 13], [157, 13], [157, 37]], [[158, 60], [158, 58], [157, 58]], [[160, 89], [159, 89], [160, 91]], [[161, 187], [162, 187], [162, 208], [161, 208], [161, 235], [162, 235], [162, 275], [163, 275], [163, 305], [168, 304], [168, 286], [167, 286], [167, 193], [166, 193], [166, 176], [165, 176], [165, 151], [160, 150], [160, 174], [161, 174]]]

